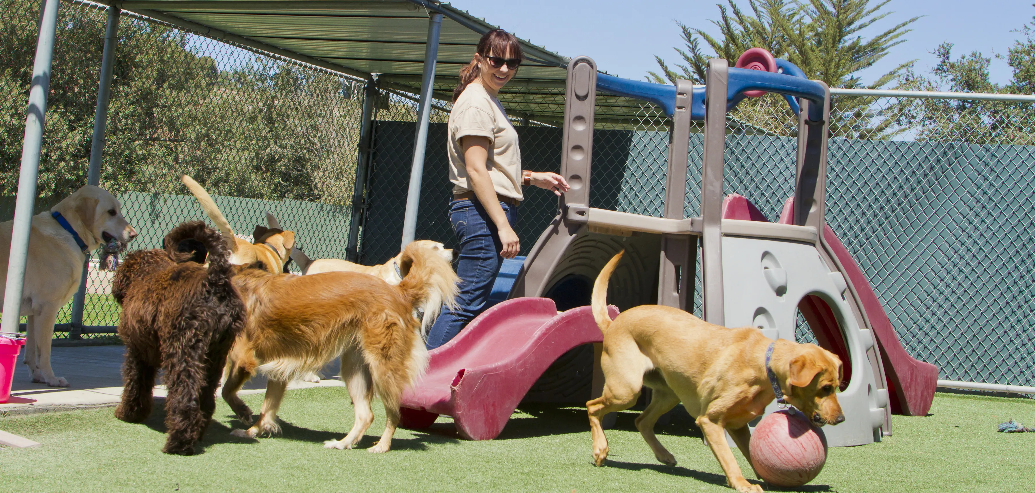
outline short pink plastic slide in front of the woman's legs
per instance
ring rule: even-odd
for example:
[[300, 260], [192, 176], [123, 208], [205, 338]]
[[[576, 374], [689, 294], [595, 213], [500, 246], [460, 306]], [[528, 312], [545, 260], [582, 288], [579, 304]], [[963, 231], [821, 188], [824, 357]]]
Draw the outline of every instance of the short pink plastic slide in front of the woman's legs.
[[[618, 316], [618, 309], [610, 308], [611, 316]], [[447, 414], [465, 438], [496, 438], [557, 358], [602, 341], [588, 306], [558, 313], [549, 298], [502, 302], [431, 350], [423, 379], [403, 395], [401, 425], [427, 428]]]

